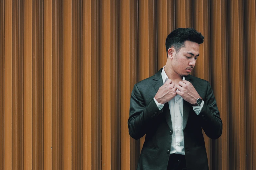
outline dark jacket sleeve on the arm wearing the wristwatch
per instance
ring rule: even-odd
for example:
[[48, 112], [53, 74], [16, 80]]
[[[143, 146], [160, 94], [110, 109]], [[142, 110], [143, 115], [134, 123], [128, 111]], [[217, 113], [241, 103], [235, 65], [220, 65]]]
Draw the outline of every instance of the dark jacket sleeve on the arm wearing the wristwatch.
[[204, 102], [201, 112], [198, 115], [201, 126], [208, 137], [217, 139], [222, 134], [222, 121], [220, 119], [220, 112], [209, 82]]

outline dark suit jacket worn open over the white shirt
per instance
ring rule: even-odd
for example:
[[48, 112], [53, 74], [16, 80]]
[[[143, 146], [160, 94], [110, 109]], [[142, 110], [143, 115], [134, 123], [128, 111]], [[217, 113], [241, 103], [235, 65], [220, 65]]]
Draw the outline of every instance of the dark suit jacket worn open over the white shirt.
[[[172, 144], [172, 121], [168, 102], [159, 110], [154, 96], [163, 85], [162, 69], [154, 76], [134, 85], [130, 99], [129, 134], [140, 139], [146, 134], [137, 170], [166, 170]], [[199, 115], [193, 106], [183, 100], [183, 133], [188, 170], [208, 170], [202, 128], [205, 134], [217, 139], [222, 134], [222, 121], [208, 81], [188, 75], [204, 105]]]

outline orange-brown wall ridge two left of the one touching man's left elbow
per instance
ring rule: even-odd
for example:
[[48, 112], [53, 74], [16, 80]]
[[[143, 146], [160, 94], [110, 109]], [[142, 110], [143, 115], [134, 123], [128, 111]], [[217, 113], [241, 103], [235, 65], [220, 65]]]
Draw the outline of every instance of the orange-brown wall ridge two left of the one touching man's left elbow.
[[[83, 169], [101, 169], [100, 1], [83, 2]], [[85, 11], [85, 12], [84, 12]]]

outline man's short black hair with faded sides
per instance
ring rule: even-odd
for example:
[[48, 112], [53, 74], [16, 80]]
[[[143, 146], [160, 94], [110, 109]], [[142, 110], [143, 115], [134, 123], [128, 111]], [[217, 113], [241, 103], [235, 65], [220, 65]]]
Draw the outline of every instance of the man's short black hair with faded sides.
[[180, 48], [185, 46], [184, 42], [186, 40], [202, 44], [204, 42], [204, 36], [194, 28], [177, 28], [165, 40], [166, 52], [168, 53], [168, 49], [173, 46], [178, 53]]

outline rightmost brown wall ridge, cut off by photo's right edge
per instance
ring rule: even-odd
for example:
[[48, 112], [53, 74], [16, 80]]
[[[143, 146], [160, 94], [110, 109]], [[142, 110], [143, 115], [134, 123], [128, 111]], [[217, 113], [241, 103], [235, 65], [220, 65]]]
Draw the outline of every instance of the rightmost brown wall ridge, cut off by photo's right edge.
[[256, 169], [256, 3], [245, 1], [247, 169]]

